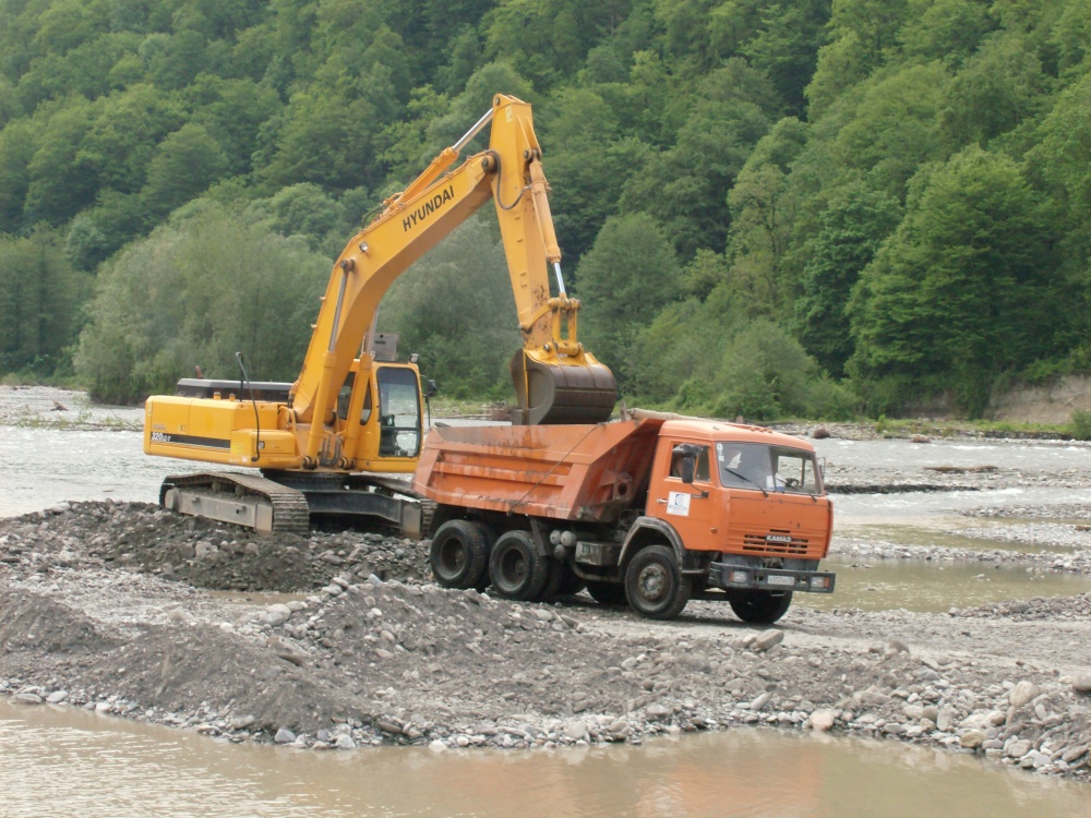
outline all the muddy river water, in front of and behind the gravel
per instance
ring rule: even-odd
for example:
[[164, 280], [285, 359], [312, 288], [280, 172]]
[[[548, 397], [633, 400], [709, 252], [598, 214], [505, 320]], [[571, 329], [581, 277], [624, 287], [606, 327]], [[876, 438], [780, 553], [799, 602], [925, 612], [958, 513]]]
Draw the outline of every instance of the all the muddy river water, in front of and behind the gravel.
[[[51, 411], [61, 400], [67, 411]], [[0, 388], [0, 517], [61, 501], [155, 502], [185, 464], [144, 457], [139, 410], [91, 407], [55, 390]], [[125, 429], [125, 426], [130, 426]], [[912, 471], [1019, 464], [1091, 468], [1091, 448], [1039, 443], [822, 441], [830, 462]], [[960, 538], [958, 513], [1082, 501], [1034, 485], [985, 492], [846, 495], [837, 537], [1012, 548]], [[951, 533], [955, 532], [955, 533]], [[1032, 550], [1033, 543], [1020, 546]], [[834, 551], [836, 552], [836, 541]], [[801, 604], [946, 610], [1074, 594], [1087, 577], [980, 564], [832, 561], [838, 592]], [[958, 589], [958, 593], [955, 590]], [[969, 596], [968, 596], [969, 594]], [[384, 747], [353, 753], [231, 745], [70, 708], [0, 699], [0, 816], [1087, 816], [1086, 787], [901, 743], [771, 730], [662, 738], [642, 746], [537, 753]]]

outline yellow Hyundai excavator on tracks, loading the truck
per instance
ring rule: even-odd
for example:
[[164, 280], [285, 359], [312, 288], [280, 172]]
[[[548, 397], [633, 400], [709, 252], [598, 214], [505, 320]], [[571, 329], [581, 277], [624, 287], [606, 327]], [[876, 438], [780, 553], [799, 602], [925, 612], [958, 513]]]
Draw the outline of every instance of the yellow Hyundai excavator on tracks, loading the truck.
[[[490, 123], [488, 149], [453, 168]], [[415, 358], [397, 362], [396, 339], [375, 332], [375, 316], [391, 284], [489, 200], [523, 333], [513, 423], [607, 420], [616, 384], [577, 339], [579, 301], [565, 291], [548, 191], [530, 106], [497, 94], [341, 252], [295, 383], [251, 382], [239, 354], [237, 380], [183, 378], [175, 395], [147, 399], [145, 454], [254, 470], [167, 478], [160, 503], [263, 532], [302, 534], [311, 514], [325, 514], [419, 534], [422, 505], [392, 476], [417, 466], [430, 390]]]

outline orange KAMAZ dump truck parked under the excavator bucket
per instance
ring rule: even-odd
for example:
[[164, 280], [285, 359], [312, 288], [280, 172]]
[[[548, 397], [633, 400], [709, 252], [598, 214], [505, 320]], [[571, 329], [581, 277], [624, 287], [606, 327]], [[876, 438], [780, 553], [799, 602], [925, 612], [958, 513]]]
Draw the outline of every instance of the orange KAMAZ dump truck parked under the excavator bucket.
[[594, 425], [444, 426], [413, 489], [436, 504], [431, 563], [447, 588], [541, 601], [586, 587], [673, 618], [723, 600], [783, 616], [818, 570], [834, 512], [814, 447], [768, 429], [635, 411]]

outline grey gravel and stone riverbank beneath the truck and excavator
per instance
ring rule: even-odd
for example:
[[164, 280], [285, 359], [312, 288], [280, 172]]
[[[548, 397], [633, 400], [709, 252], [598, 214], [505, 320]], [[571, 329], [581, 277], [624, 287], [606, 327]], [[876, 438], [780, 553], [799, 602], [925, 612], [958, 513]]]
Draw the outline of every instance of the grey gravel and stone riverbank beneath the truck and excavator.
[[707, 602], [652, 623], [583, 596], [529, 605], [429, 580], [424, 544], [379, 534], [253, 538], [109, 501], [3, 519], [0, 693], [299, 748], [774, 725], [1089, 778], [1089, 594], [942, 614], [795, 606], [759, 628]]

